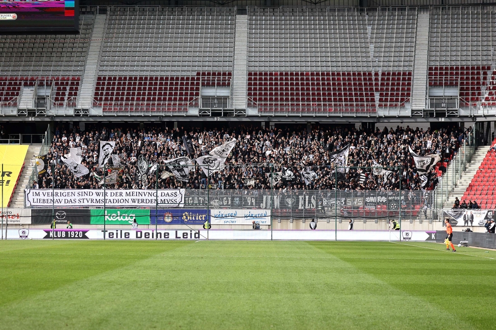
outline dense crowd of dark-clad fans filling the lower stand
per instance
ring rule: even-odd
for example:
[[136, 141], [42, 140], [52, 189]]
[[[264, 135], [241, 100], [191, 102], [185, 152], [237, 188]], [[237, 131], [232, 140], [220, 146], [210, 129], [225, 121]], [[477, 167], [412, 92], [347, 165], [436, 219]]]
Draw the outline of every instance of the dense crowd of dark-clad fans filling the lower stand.
[[[432, 188], [437, 182], [437, 174], [431, 170], [428, 182], [420, 178], [415, 168], [408, 146], [419, 155], [438, 153], [443, 161], [449, 162], [464, 142], [470, 128], [446, 127], [439, 130], [412, 129], [397, 126], [384, 127], [366, 132], [356, 128], [315, 126], [305, 128], [261, 128], [239, 126], [236, 128], [158, 128], [119, 126], [95, 126], [82, 131], [59, 128], [52, 132], [53, 140], [47, 154], [48, 170], [39, 176], [34, 186], [51, 188], [89, 188], [102, 186], [101, 168], [98, 168], [100, 141], [115, 141], [114, 154], [123, 164], [118, 180], [107, 188], [154, 189], [270, 189], [267, 174], [280, 172], [283, 167], [295, 174], [293, 181], [281, 180], [274, 189], [337, 189], [342, 190], [397, 190]], [[183, 144], [183, 136], [191, 140], [194, 150], [191, 156]], [[205, 176], [193, 161], [190, 180], [182, 182], [175, 177], [162, 179], [166, 168], [164, 161], [179, 156], [195, 159], [207, 155], [214, 147], [236, 139], [236, 146], [226, 161], [224, 170]], [[346, 171], [334, 172], [334, 164], [329, 162], [329, 152], [350, 145]], [[61, 156], [69, 153], [69, 148], [81, 147], [82, 164], [90, 171], [80, 178], [74, 175], [61, 161]], [[147, 180], [137, 180], [137, 161], [143, 155], [151, 166], [157, 163], [158, 174], [148, 175]], [[393, 172], [386, 177], [374, 175], [372, 167], [379, 163]], [[52, 165], [53, 164], [53, 165]], [[358, 168], [357, 168], [358, 167]], [[362, 167], [362, 168], [359, 168]], [[52, 176], [53, 168], [53, 176]], [[314, 171], [317, 178], [308, 184], [301, 178], [302, 171]], [[336, 178], [337, 176], [337, 184]], [[55, 180], [52, 180], [55, 177]], [[157, 185], [158, 178], [158, 185]]]

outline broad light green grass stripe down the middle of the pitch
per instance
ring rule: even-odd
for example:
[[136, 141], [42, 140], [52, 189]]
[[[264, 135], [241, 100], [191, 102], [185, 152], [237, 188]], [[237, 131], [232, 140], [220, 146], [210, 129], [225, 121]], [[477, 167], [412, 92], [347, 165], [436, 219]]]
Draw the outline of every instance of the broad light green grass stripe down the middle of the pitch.
[[[361, 243], [94, 243], [75, 242], [73, 248], [84, 255], [98, 252], [98, 243], [122, 243], [130, 253], [149, 246], [158, 253], [1, 306], [0, 324], [40, 329], [475, 328], [459, 317], [462, 313], [406, 293], [356, 265], [380, 257], [356, 259]], [[151, 244], [142, 248], [141, 243]], [[372, 249], [374, 243], [368, 244]], [[375, 244], [381, 253], [381, 244], [388, 243]], [[101, 253], [108, 249], [103, 244]], [[357, 262], [345, 261], [343, 254]], [[129, 261], [122, 253], [115, 258]]]

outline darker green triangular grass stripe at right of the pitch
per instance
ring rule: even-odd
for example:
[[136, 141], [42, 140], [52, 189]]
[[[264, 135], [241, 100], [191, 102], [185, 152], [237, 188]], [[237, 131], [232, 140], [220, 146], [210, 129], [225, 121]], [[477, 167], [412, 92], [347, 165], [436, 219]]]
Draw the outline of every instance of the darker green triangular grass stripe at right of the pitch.
[[481, 310], [496, 302], [496, 289], [488, 285], [496, 275], [495, 251], [461, 247], [457, 249], [461, 253], [453, 253], [444, 244], [432, 243], [352, 243], [351, 248], [359, 244], [363, 258], [375, 257], [367, 262], [350, 256], [347, 242], [339, 248], [312, 244], [473, 328], [494, 328], [493, 315]]

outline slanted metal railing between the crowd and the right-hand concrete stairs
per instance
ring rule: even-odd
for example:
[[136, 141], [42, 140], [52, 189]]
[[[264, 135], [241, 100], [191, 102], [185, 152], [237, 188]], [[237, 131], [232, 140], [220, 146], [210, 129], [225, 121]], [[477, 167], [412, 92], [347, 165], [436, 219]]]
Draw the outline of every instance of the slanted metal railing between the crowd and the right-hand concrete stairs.
[[448, 200], [449, 194], [461, 178], [463, 171], [467, 169], [467, 164], [472, 159], [476, 150], [475, 137], [476, 127], [474, 126], [460, 145], [458, 151], [455, 152], [453, 159], [446, 168], [446, 172], [439, 178], [439, 183], [434, 190], [435, 208], [443, 208], [443, 204]]

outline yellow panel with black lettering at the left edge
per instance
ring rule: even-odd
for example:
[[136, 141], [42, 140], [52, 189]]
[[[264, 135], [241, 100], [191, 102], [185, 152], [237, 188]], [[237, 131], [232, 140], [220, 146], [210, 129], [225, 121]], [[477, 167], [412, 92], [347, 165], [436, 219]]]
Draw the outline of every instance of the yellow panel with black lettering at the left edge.
[[[9, 204], [17, 178], [19, 178], [24, 158], [26, 158], [27, 148], [28, 146], [24, 145], [0, 145], [0, 172], [2, 172], [1, 166], [3, 165], [0, 183], [4, 190], [4, 208]], [[2, 188], [2, 186], [0, 186], [0, 188]]]

